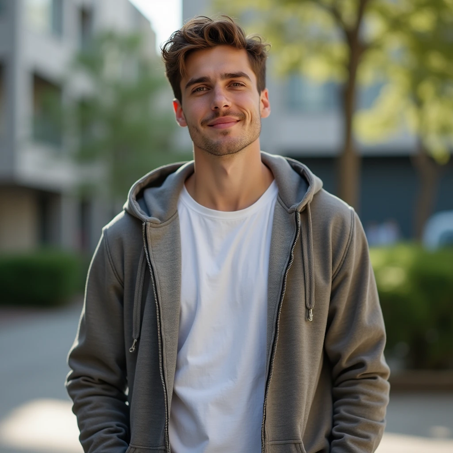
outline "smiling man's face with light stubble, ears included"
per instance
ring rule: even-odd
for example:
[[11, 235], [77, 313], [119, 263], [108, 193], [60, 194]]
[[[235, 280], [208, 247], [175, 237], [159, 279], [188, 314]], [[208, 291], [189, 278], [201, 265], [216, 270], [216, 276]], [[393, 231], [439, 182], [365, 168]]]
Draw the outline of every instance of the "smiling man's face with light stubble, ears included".
[[198, 50], [186, 59], [182, 105], [176, 120], [188, 126], [194, 146], [216, 156], [235, 154], [258, 140], [270, 114], [267, 89], [256, 87], [247, 52], [230, 46]]

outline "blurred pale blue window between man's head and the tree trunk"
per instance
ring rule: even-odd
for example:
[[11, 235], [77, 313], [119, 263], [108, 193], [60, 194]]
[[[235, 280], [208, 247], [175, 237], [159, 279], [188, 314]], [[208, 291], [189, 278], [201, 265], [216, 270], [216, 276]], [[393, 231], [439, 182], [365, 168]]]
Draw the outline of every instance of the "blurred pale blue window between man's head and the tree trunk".
[[289, 76], [286, 85], [286, 104], [290, 111], [325, 113], [339, 106], [338, 85], [318, 83], [299, 74]]

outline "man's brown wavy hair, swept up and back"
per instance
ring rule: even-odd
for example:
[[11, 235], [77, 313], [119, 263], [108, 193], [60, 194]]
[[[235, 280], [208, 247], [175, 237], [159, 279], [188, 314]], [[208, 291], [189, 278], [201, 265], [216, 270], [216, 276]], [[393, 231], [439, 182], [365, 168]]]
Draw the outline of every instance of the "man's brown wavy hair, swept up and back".
[[265, 89], [266, 59], [270, 45], [258, 35], [246, 36], [244, 30], [229, 16], [222, 15], [216, 19], [198, 16], [175, 31], [161, 47], [165, 75], [179, 102], [182, 101], [180, 83], [185, 75], [188, 54], [220, 45], [246, 50], [250, 66], [255, 72], [258, 92]]

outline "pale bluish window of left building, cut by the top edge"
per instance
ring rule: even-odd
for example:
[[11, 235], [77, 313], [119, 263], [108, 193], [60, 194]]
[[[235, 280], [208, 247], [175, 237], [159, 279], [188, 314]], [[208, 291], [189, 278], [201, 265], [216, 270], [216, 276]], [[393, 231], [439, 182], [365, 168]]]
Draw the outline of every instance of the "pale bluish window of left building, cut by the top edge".
[[35, 31], [63, 36], [63, 0], [26, 0], [26, 17]]

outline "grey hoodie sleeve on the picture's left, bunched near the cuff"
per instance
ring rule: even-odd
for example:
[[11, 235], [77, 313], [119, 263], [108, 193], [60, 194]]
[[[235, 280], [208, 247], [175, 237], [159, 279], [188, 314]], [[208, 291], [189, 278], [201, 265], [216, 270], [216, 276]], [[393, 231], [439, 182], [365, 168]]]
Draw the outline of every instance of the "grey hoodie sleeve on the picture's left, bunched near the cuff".
[[85, 453], [124, 453], [128, 447], [123, 330], [123, 284], [112, 264], [104, 229], [88, 270], [65, 383]]

